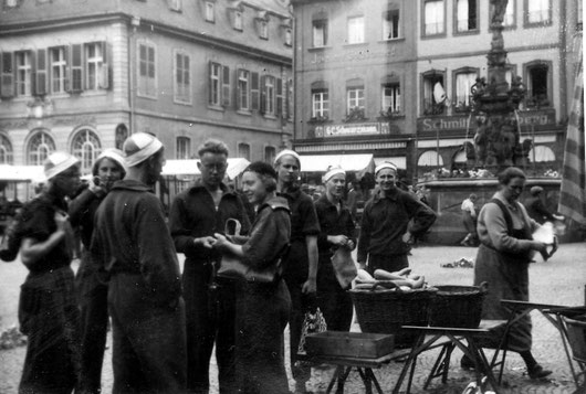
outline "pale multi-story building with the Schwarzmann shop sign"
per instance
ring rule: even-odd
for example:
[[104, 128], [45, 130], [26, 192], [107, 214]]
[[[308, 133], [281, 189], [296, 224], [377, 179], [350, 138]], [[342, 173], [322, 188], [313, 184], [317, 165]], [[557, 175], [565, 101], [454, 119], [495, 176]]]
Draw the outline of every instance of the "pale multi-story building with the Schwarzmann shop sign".
[[[415, 151], [415, 1], [293, 0], [295, 149], [374, 153], [407, 168]], [[325, 163], [324, 163], [325, 164]]]

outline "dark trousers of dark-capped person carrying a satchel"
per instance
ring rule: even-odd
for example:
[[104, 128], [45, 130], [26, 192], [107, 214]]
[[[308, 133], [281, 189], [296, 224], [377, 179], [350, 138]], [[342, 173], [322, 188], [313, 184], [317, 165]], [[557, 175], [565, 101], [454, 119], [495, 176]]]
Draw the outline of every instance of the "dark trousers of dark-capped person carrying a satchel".
[[291, 299], [285, 284], [243, 283], [237, 299], [239, 393], [289, 394], [283, 332]]

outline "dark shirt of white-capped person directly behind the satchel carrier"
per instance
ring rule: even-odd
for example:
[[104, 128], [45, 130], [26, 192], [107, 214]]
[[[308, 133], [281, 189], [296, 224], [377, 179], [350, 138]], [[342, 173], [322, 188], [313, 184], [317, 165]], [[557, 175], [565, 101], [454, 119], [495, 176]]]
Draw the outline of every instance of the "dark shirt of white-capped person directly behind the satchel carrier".
[[286, 199], [291, 210], [291, 249], [285, 265], [284, 277], [289, 284], [307, 280], [310, 260], [305, 237], [320, 234], [320, 222], [311, 196], [301, 189], [278, 193]]

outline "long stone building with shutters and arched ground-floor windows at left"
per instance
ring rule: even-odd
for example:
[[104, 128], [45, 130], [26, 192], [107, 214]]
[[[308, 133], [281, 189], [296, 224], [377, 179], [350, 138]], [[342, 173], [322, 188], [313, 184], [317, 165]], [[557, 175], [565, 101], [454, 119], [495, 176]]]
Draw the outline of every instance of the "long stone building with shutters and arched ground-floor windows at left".
[[168, 159], [214, 137], [272, 160], [292, 135], [292, 18], [271, 0], [2, 0], [0, 162], [82, 159], [134, 131]]

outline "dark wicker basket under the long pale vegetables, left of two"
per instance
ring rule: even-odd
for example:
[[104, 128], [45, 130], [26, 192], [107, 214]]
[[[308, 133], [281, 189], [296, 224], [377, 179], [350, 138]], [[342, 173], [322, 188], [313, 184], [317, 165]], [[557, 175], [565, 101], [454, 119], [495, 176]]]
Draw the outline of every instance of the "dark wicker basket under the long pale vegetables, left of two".
[[395, 334], [395, 345], [406, 348], [415, 343], [417, 332], [405, 332], [401, 326], [428, 326], [429, 307], [437, 289], [348, 291], [360, 331]]

